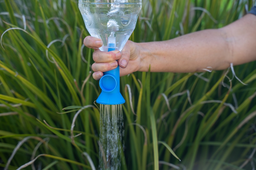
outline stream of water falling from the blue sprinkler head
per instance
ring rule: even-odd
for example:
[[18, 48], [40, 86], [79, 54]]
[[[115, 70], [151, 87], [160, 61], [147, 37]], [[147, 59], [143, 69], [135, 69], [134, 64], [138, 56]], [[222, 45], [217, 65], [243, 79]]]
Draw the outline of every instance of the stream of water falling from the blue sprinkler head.
[[118, 170], [121, 167], [124, 123], [122, 105], [100, 104], [99, 169]]

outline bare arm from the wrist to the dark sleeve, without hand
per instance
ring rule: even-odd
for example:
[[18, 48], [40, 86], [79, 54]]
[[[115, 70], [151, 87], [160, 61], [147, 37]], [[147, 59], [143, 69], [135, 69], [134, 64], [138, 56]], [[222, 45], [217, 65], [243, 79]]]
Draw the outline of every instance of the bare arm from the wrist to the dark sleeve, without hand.
[[[255, 59], [255, 52], [252, 53], [255, 48], [250, 45], [255, 44], [255, 40], [250, 37], [250, 32], [254, 32], [252, 35], [255, 37], [255, 27], [245, 28], [244, 25], [249, 22], [247, 20], [250, 18], [227, 28], [198, 31], [168, 41], [139, 43], [139, 71], [148, 71], [150, 65], [152, 72], [195, 72], [207, 67], [221, 70], [228, 68], [230, 63], [238, 65], [249, 62]], [[243, 25], [243, 33], [239, 33], [239, 25]], [[249, 35], [244, 35], [246, 31]], [[246, 40], [240, 40], [239, 37]], [[241, 59], [243, 55], [246, 56]]]

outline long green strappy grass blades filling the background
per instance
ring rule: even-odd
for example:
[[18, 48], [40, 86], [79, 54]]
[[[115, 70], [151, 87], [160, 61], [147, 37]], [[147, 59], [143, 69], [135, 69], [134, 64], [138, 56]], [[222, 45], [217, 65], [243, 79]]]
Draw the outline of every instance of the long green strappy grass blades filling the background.
[[[143, 1], [130, 40], [161, 41], [220, 28], [246, 14], [246, 7], [253, 4], [252, 0]], [[0, 47], [0, 167], [15, 150], [9, 169], [38, 155], [36, 169], [90, 169], [92, 162], [97, 169], [100, 114], [94, 101], [100, 88], [91, 76], [93, 51], [82, 46], [89, 34], [78, 4], [4, 0], [0, 18], [0, 35], [19, 28], [7, 31], [4, 48]], [[193, 73], [136, 72], [122, 77], [126, 100], [122, 169], [253, 169], [255, 64], [234, 68], [248, 86], [225, 78], [228, 86], [223, 87], [226, 70], [206, 72], [202, 76], [207, 81]], [[87, 105], [94, 107], [82, 108]], [[73, 135], [81, 135], [72, 142], [70, 129], [78, 111]], [[24, 143], [16, 148], [19, 141]]]

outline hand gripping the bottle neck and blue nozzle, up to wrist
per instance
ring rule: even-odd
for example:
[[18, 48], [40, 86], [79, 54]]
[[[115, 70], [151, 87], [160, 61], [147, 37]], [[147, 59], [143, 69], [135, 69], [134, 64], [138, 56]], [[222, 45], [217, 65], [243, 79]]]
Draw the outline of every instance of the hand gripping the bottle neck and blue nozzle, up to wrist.
[[[120, 66], [120, 76], [131, 74], [138, 71], [140, 68], [140, 58], [138, 57], [138, 48], [136, 43], [127, 41], [122, 52], [115, 50], [110, 52], [100, 51], [102, 41], [99, 38], [87, 36], [84, 45], [88, 48], [94, 49], [92, 70], [94, 73], [92, 77], [99, 80], [103, 76], [103, 72], [110, 71]], [[117, 61], [116, 61], [117, 60]]]

